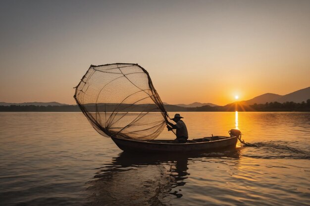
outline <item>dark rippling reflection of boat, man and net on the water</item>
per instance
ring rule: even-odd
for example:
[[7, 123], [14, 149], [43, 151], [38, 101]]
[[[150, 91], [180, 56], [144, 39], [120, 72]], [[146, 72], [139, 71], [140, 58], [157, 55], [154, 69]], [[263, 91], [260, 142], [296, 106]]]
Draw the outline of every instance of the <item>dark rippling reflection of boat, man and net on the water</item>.
[[190, 164], [216, 157], [239, 158], [239, 150], [199, 156], [122, 152], [111, 164], [99, 168], [95, 179], [88, 182], [92, 193], [89, 205], [165, 205], [166, 199], [183, 196], [180, 187], [190, 175]]

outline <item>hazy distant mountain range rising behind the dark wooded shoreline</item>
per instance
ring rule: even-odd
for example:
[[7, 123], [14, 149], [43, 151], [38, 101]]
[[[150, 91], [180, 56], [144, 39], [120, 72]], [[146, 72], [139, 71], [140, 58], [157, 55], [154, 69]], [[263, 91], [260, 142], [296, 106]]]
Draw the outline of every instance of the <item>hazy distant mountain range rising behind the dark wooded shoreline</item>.
[[[307, 101], [307, 99], [310, 99], [310, 87], [300, 89], [297, 91], [294, 91], [292, 93], [286, 94], [286, 95], [279, 95], [279, 94], [273, 94], [273, 93], [265, 93], [262, 95], [259, 95], [257, 97], [254, 97], [249, 100], [240, 101], [240, 103], [243, 103], [245, 105], [253, 105], [253, 104], [265, 104], [266, 102], [295, 102], [295, 103], [301, 103], [303, 101]], [[210, 106], [210, 107], [217, 107], [218, 105], [212, 104], [212, 103], [200, 103], [200, 102], [194, 102], [192, 104], [175, 104], [171, 105], [166, 102], [163, 102], [166, 106], [176, 106], [176, 108], [193, 108], [193, 107], [203, 107], [203, 106]], [[62, 104], [58, 102], [24, 102], [24, 103], [6, 103], [6, 102], [0, 102], [0, 106], [10, 106], [10, 105], [34, 105], [34, 106], [65, 106], [68, 104]]]

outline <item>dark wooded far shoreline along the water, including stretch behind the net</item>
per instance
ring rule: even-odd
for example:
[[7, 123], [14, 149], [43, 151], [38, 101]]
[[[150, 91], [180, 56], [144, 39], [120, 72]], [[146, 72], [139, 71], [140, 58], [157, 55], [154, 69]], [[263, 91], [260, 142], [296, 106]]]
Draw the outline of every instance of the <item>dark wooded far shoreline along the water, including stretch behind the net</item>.
[[[154, 112], [160, 112], [155, 104], [140, 104], [131, 107], [130, 104], [100, 103], [85, 104], [88, 112], [143, 112], [146, 108], [153, 108]], [[310, 112], [310, 99], [307, 102], [266, 102], [265, 104], [246, 105], [234, 102], [225, 106], [180, 107], [176, 105], [164, 105], [167, 112]], [[149, 110], [148, 110], [149, 111]], [[10, 105], [0, 106], [0, 112], [81, 112], [79, 105], [62, 106], [35, 106], [35, 105]]]

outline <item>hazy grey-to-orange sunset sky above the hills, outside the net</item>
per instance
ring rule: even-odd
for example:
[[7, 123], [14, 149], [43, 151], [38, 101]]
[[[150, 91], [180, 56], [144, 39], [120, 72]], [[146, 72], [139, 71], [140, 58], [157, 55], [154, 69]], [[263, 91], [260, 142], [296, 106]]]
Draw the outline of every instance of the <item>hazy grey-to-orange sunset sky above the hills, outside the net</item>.
[[0, 101], [73, 104], [91, 64], [138, 63], [162, 101], [310, 86], [310, 0], [0, 0]]

